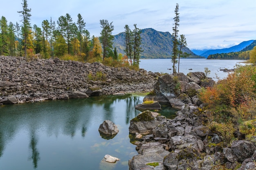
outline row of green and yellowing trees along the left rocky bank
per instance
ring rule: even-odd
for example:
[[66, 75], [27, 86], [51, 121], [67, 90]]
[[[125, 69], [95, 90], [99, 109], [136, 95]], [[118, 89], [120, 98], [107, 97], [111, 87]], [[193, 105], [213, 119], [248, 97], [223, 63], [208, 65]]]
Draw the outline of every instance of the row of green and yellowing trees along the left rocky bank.
[[[99, 37], [91, 37], [90, 32], [85, 28], [85, 21], [79, 13], [76, 22], [70, 14], [60, 16], [55, 22], [43, 20], [41, 26], [31, 26], [31, 9], [27, 0], [22, 0], [22, 11], [18, 11], [21, 17], [21, 24], [7, 22], [2, 16], [0, 18], [0, 55], [34, 57], [39, 55], [42, 58], [63, 57], [64, 59], [76, 59], [86, 62], [101, 62], [106, 58], [122, 61], [130, 65], [139, 66], [141, 51], [140, 29], [134, 24], [135, 29], [126, 30], [126, 46], [129, 46], [126, 54], [117, 54], [113, 47], [114, 30], [113, 22], [100, 20], [101, 33]], [[129, 28], [129, 27], [128, 27]], [[108, 59], [110, 60], [110, 59]], [[133, 62], [132, 62], [133, 61]]]

